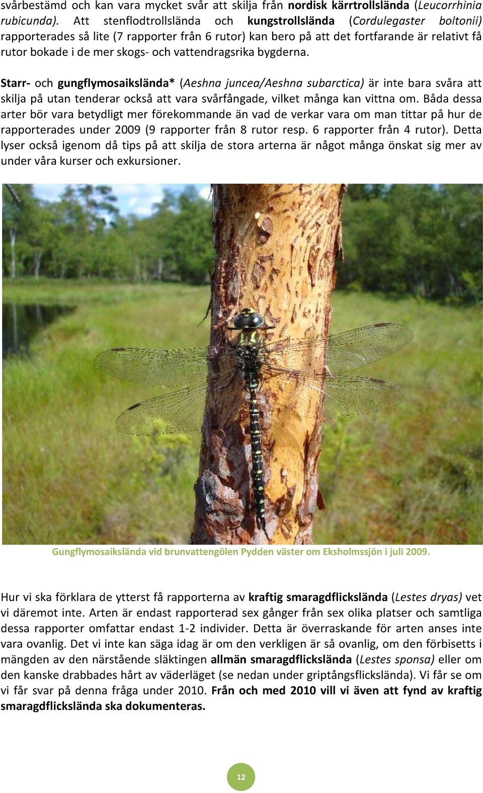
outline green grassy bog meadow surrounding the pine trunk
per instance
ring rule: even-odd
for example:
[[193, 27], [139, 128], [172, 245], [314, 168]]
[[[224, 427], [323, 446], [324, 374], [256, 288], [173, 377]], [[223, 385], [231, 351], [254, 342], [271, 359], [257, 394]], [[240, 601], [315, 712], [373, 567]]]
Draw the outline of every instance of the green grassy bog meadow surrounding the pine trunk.
[[[3, 542], [186, 542], [199, 441], [118, 435], [116, 416], [153, 391], [92, 362], [115, 345], [205, 343], [208, 299], [176, 284], [6, 283], [4, 301], [78, 308], [4, 367]], [[367, 367], [404, 385], [393, 412], [325, 427], [314, 541], [481, 542], [479, 310], [344, 292], [332, 303], [333, 332], [396, 321], [415, 339]]]

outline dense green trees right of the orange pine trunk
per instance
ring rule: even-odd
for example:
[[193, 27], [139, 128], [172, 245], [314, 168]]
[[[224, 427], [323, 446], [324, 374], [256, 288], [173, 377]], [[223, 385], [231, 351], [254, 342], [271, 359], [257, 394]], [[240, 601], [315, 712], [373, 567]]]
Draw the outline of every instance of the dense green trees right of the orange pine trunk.
[[481, 185], [352, 186], [344, 251], [340, 285], [481, 299]]

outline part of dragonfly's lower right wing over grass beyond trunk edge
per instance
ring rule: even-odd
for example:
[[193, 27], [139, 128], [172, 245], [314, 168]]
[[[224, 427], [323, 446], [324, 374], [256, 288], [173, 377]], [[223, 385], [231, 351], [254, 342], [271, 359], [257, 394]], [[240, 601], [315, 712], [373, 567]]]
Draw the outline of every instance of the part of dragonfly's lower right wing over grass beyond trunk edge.
[[326, 416], [357, 416], [390, 410], [403, 397], [397, 385], [373, 377], [327, 377], [324, 390]]

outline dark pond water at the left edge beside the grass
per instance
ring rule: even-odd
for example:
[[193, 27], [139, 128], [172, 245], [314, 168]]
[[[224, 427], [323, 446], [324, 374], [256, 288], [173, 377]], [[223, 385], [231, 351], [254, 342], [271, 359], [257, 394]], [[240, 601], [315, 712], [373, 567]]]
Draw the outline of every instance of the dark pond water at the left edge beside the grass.
[[2, 358], [25, 353], [32, 337], [58, 316], [74, 311], [67, 305], [2, 304]]

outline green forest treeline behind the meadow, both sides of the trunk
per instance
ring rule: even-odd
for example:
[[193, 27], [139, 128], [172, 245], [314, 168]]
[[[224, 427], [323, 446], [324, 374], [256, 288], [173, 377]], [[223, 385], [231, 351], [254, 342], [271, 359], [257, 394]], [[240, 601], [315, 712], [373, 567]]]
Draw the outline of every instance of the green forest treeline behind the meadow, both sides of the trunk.
[[[214, 262], [211, 205], [165, 191], [149, 217], [120, 216], [115, 187], [67, 186], [40, 201], [3, 187], [3, 274], [204, 283]], [[339, 285], [481, 299], [481, 185], [352, 185]]]

